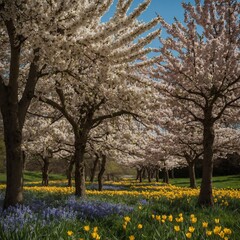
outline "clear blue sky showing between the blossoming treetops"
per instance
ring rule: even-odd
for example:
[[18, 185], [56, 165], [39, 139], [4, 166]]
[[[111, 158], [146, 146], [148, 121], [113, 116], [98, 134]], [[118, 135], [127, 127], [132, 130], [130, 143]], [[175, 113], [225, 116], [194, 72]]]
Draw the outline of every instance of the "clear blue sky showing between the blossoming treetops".
[[[134, 0], [129, 11], [131, 12], [144, 0]], [[162, 16], [168, 23], [172, 23], [174, 17], [178, 20], [183, 19], [183, 8], [181, 6], [182, 2], [191, 2], [194, 4], [194, 0], [152, 0], [148, 9], [139, 17], [140, 20], [149, 22], [159, 14]], [[114, 13], [117, 0], [114, 0], [114, 4], [111, 6], [109, 12], [102, 18], [103, 21], [107, 21]], [[166, 36], [162, 32], [162, 36]], [[159, 41], [156, 39], [151, 44], [151, 47], [158, 47]]]

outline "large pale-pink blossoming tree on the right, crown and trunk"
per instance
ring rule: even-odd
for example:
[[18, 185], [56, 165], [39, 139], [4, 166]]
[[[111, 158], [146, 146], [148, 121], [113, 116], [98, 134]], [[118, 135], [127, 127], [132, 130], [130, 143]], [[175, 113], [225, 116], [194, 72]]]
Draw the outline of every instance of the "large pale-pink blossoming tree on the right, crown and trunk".
[[200, 205], [213, 205], [212, 169], [215, 126], [237, 118], [240, 104], [239, 2], [206, 0], [183, 4], [184, 23], [161, 24], [169, 37], [161, 38], [156, 75], [169, 104], [182, 111], [186, 122], [202, 125], [203, 168]]

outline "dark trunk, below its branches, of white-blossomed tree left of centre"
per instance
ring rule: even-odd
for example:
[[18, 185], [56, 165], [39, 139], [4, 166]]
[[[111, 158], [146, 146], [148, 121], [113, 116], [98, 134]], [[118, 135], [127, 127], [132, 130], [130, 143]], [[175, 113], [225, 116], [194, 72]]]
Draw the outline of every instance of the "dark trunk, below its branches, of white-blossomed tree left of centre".
[[86, 196], [84, 153], [86, 144], [75, 140], [75, 195], [78, 197]]

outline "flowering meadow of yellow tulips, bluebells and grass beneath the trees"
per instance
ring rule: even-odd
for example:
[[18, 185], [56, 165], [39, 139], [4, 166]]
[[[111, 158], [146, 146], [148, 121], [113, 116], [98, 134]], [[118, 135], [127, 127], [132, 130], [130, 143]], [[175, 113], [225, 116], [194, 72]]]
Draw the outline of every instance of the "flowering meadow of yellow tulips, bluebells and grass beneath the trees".
[[[42, 187], [37, 173], [27, 173], [25, 203], [2, 213], [0, 239], [240, 239], [239, 175], [213, 179], [213, 208], [197, 206], [199, 189], [186, 187], [187, 179], [171, 181], [105, 182], [102, 192], [88, 183], [87, 197], [78, 199], [61, 176]], [[1, 204], [4, 189], [2, 183]]]

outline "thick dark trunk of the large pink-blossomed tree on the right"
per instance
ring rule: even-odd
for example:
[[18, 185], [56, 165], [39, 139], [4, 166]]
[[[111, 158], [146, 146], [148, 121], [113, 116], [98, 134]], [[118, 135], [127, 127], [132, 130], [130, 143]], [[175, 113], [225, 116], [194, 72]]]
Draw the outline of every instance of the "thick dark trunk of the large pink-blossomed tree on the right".
[[206, 120], [203, 130], [203, 165], [202, 165], [202, 182], [198, 198], [201, 206], [213, 206], [212, 195], [212, 172], [213, 172], [213, 143], [214, 129], [211, 120]]

